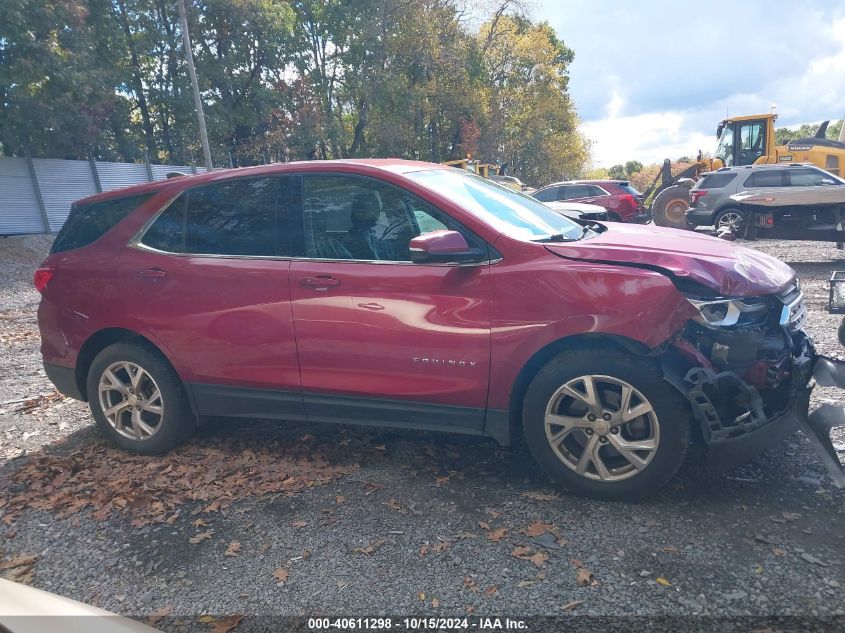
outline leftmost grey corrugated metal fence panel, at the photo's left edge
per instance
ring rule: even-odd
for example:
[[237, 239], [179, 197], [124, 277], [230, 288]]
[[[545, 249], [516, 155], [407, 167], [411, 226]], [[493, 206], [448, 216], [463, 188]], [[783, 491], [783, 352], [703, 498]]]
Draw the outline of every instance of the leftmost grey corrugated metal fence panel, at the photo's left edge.
[[0, 235], [43, 232], [26, 159], [0, 158]]

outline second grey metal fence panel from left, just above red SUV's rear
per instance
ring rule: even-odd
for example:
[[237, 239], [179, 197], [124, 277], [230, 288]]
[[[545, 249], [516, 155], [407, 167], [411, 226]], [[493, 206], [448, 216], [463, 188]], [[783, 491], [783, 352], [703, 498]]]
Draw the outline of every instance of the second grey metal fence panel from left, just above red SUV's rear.
[[70, 205], [97, 193], [87, 160], [33, 158], [32, 166], [44, 199], [50, 231], [58, 231], [67, 220]]

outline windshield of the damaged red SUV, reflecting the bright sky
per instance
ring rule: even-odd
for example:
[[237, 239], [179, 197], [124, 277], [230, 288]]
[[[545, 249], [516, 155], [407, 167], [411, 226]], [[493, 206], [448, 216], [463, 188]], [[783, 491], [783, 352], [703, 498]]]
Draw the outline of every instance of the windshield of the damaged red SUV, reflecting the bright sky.
[[406, 176], [461, 205], [509, 237], [545, 240], [562, 235], [579, 239], [584, 234], [579, 224], [534, 198], [480, 176], [456, 169], [416, 171]]

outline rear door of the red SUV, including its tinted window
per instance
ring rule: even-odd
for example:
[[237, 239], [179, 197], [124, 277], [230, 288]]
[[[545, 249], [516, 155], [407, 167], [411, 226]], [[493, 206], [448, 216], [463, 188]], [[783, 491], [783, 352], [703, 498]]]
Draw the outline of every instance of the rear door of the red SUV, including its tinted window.
[[173, 363], [201, 415], [304, 417], [288, 275], [290, 177], [195, 187], [121, 256], [129, 327]]

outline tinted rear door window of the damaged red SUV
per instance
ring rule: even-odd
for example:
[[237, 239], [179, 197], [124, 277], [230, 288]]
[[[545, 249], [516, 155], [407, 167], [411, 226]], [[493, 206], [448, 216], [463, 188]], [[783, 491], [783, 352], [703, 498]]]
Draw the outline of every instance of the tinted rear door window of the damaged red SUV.
[[156, 218], [141, 242], [170, 253], [289, 256], [291, 193], [288, 177], [189, 189]]

